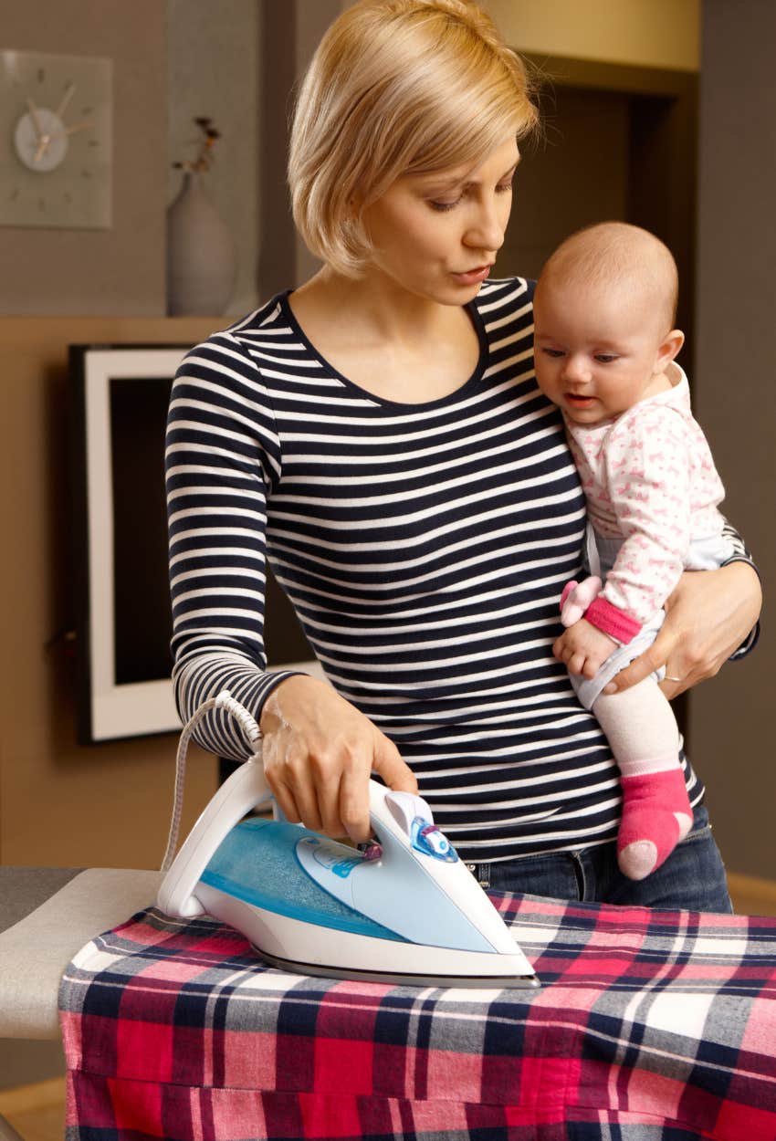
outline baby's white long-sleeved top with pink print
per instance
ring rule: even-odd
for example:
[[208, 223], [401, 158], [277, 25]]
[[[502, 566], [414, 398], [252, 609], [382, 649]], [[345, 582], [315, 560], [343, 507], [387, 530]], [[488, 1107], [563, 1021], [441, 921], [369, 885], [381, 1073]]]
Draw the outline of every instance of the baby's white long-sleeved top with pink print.
[[721, 536], [725, 525], [717, 509], [725, 488], [693, 418], [687, 378], [676, 364], [671, 375], [671, 389], [616, 420], [587, 427], [566, 419], [593, 531], [623, 541], [601, 601], [629, 616], [631, 637], [693, 567], [692, 544]]

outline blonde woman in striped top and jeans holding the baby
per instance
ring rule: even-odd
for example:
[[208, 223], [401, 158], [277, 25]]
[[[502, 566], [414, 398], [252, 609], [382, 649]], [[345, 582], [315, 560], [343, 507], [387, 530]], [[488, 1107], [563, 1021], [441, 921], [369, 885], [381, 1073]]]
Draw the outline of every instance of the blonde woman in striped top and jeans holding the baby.
[[[552, 656], [584, 500], [534, 380], [532, 286], [486, 281], [535, 118], [472, 3], [370, 0], [324, 37], [289, 165], [324, 266], [194, 349], [172, 394], [179, 707], [228, 687], [253, 711], [290, 820], [365, 840], [374, 771], [420, 785], [480, 882], [725, 909], [701, 808], [660, 882], [620, 882], [616, 768]], [[264, 671], [265, 552], [331, 685]], [[716, 672], [758, 605], [744, 561], [685, 576], [650, 650], [684, 679], [670, 695]], [[218, 718], [200, 741], [246, 755]], [[687, 783], [700, 806], [689, 766]], [[703, 869], [681, 863], [701, 850]]]

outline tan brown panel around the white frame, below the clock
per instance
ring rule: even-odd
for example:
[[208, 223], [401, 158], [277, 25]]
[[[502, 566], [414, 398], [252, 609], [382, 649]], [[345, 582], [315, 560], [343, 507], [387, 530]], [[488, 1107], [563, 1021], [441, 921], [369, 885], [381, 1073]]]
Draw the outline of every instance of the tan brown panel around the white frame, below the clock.
[[[67, 346], [193, 345], [223, 325], [223, 317], [0, 317], [3, 864], [159, 865], [177, 738], [79, 745], [73, 661], [57, 637], [72, 616]], [[189, 755], [184, 828], [217, 783], [216, 759], [194, 746]]]

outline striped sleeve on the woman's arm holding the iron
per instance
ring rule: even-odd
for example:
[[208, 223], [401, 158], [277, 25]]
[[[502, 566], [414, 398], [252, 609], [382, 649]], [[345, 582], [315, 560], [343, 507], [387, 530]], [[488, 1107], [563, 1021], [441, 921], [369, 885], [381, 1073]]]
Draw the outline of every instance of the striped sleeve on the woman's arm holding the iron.
[[[172, 387], [167, 436], [173, 682], [187, 720], [224, 688], [257, 717], [288, 672], [266, 671], [267, 499], [281, 475], [272, 404], [229, 333], [188, 354]], [[213, 713], [200, 743], [243, 759], [245, 743]]]

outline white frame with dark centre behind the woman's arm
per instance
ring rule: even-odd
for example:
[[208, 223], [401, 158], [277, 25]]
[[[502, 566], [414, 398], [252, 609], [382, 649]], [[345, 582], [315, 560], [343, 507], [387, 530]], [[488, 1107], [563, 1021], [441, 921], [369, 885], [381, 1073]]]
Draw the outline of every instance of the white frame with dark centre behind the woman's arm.
[[[164, 428], [191, 346], [71, 345], [71, 534], [81, 743], [177, 733], [170, 673]], [[322, 677], [267, 574], [269, 669]]]

